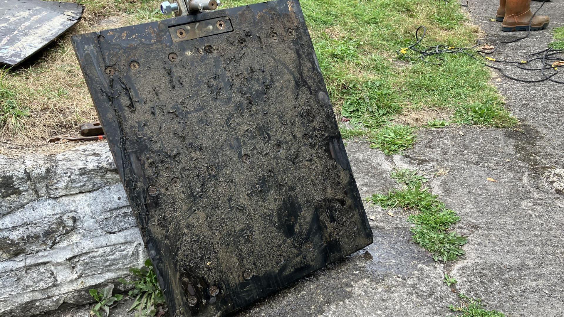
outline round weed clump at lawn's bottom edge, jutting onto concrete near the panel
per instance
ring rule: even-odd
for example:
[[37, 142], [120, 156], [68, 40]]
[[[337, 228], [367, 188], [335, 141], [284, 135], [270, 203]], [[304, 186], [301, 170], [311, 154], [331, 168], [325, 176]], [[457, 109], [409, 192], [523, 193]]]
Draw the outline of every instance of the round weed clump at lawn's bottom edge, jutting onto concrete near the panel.
[[385, 155], [401, 153], [415, 143], [414, 129], [406, 125], [389, 125], [376, 131], [370, 139], [371, 148], [381, 149]]

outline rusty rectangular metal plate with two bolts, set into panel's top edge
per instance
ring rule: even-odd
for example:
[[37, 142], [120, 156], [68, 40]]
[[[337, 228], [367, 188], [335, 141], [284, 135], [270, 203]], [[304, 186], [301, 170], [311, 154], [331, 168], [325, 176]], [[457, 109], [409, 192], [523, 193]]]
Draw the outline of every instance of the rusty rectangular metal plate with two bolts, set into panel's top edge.
[[231, 20], [227, 16], [169, 27], [170, 37], [175, 43], [231, 32], [232, 30]]

